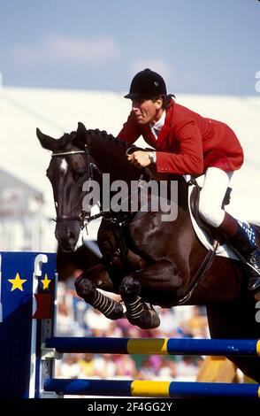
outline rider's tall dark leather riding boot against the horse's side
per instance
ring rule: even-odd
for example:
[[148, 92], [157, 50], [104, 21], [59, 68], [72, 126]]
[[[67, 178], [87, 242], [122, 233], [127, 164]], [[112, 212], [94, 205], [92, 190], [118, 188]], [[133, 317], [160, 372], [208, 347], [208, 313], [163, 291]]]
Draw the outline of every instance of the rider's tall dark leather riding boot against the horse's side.
[[226, 237], [227, 243], [230, 243], [246, 262], [249, 273], [249, 290], [254, 293], [260, 291], [260, 250], [257, 249], [256, 244], [249, 240], [247, 232], [227, 212], [225, 212], [225, 218], [218, 229]]

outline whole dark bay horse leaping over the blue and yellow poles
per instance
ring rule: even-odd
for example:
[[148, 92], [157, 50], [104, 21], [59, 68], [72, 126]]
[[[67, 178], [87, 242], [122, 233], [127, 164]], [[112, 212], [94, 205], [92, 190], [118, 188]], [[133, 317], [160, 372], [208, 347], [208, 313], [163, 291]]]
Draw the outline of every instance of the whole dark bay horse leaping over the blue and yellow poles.
[[[103, 220], [97, 241], [103, 260], [84, 271], [75, 282], [80, 297], [106, 317], [116, 320], [123, 316], [122, 304], [96, 289], [118, 293], [126, 306], [126, 318], [143, 328], [159, 325], [157, 312], [147, 303], [167, 308], [178, 304], [204, 304], [212, 338], [259, 337], [255, 301], [247, 292], [241, 262], [214, 258], [210, 270], [191, 296], [187, 296], [189, 283], [207, 250], [192, 227], [187, 184], [182, 178], [177, 178], [178, 199], [173, 202], [178, 208], [175, 220], [163, 220], [161, 209], [131, 212], [133, 194], [129, 193], [122, 196], [129, 204], [129, 212], [105, 211], [103, 191], [109, 184], [103, 182], [103, 173], [110, 173], [110, 183], [120, 180], [130, 186], [131, 181], [140, 183], [141, 180], [141, 171], [126, 160], [127, 143], [106, 132], [86, 130], [81, 123], [76, 132], [60, 139], [43, 135], [39, 129], [37, 136], [42, 147], [52, 151], [47, 175], [57, 211], [55, 235], [63, 250], [74, 250], [80, 227], [89, 220], [88, 206], [83, 204], [84, 198], [89, 196], [85, 184], [89, 180], [96, 181], [101, 189]], [[157, 173], [153, 173], [153, 177], [157, 181], [172, 179], [166, 175], [159, 177]], [[111, 200], [114, 196], [112, 192]], [[147, 206], [150, 203], [151, 193]], [[259, 358], [231, 359], [244, 374], [260, 382]]]

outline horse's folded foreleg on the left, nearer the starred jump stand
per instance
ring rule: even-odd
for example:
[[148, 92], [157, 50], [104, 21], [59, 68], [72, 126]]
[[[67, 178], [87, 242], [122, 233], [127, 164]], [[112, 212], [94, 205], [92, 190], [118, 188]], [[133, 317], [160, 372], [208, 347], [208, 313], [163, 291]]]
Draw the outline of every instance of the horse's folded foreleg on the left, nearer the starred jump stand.
[[85, 302], [102, 312], [106, 318], [110, 320], [123, 318], [122, 304], [103, 295], [96, 289], [97, 287], [110, 291], [113, 289], [109, 274], [103, 265], [96, 265], [80, 274], [75, 281], [76, 292]]

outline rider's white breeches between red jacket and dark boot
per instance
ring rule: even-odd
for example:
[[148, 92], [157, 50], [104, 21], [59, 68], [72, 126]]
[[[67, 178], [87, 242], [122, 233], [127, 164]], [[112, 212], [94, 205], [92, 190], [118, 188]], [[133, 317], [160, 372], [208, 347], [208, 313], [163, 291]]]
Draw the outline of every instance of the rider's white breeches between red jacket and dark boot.
[[224, 220], [222, 210], [226, 189], [233, 176], [233, 171], [225, 172], [218, 167], [208, 167], [205, 173], [203, 189], [200, 194], [199, 212], [203, 220], [212, 227], [219, 227]]

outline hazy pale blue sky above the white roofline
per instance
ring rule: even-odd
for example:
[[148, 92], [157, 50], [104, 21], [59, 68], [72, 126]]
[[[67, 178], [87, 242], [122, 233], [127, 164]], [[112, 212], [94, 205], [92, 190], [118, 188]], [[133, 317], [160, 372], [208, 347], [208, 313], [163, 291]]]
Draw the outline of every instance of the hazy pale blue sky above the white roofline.
[[259, 40], [257, 0], [0, 0], [4, 86], [259, 96]]

